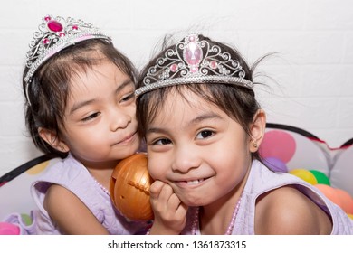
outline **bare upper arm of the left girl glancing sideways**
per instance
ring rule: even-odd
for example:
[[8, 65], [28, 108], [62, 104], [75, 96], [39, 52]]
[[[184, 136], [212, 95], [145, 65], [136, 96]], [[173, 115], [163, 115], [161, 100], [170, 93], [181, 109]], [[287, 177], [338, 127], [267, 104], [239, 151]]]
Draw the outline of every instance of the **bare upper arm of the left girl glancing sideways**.
[[63, 234], [109, 234], [86, 205], [61, 185], [53, 184], [48, 189], [44, 208]]

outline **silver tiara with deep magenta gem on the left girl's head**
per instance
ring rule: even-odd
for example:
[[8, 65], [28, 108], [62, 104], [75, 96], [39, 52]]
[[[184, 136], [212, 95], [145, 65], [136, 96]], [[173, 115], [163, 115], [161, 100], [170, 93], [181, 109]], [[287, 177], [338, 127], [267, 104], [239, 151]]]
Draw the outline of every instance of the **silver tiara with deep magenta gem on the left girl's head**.
[[85, 23], [81, 19], [52, 17], [51, 15], [43, 17], [38, 31], [33, 33], [33, 41], [29, 44], [30, 50], [26, 53], [25, 66], [29, 69], [24, 77], [27, 101], [30, 102], [28, 87], [33, 74], [44, 61], [76, 42], [90, 39], [111, 41], [110, 37], [101, 33], [99, 28], [94, 27], [91, 23]]

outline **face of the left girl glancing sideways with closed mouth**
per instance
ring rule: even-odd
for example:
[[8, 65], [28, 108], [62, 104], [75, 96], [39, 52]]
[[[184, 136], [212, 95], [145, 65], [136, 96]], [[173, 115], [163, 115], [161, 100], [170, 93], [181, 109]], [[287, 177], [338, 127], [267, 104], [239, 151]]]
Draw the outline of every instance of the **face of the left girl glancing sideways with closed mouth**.
[[87, 167], [116, 163], [138, 149], [134, 90], [132, 80], [110, 61], [72, 78], [63, 141]]

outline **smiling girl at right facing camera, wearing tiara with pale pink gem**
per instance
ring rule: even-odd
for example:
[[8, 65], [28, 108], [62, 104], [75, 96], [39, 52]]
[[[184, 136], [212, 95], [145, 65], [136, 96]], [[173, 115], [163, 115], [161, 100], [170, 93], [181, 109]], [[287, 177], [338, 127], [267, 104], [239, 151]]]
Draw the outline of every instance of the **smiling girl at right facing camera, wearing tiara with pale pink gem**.
[[142, 70], [138, 129], [156, 180], [150, 234], [353, 233], [317, 189], [262, 164], [266, 116], [254, 86], [239, 52], [194, 33]]

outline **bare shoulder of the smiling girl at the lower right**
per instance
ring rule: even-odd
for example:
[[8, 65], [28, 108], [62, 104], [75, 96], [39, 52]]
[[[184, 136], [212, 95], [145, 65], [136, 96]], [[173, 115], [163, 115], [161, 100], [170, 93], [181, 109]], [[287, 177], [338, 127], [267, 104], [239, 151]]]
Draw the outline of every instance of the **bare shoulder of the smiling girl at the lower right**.
[[329, 216], [294, 187], [284, 186], [256, 202], [256, 234], [329, 234]]

